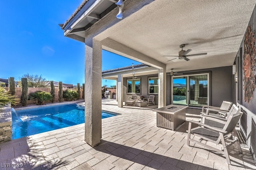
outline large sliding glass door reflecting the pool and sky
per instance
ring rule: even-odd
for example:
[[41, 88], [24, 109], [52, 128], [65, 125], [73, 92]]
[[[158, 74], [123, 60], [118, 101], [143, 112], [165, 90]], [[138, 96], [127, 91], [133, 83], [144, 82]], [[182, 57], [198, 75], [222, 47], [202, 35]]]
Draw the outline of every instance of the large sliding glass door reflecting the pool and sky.
[[208, 80], [208, 73], [172, 76], [172, 103], [188, 106], [208, 105]]

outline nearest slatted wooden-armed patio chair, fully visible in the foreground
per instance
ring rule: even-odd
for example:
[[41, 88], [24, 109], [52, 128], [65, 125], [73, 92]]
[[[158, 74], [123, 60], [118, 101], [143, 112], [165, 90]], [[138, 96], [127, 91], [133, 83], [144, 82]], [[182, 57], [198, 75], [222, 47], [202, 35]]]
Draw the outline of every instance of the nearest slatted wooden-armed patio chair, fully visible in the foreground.
[[[195, 122], [195, 121], [189, 121], [188, 124], [188, 139], [187, 139], [187, 145], [190, 145], [190, 141], [194, 142], [196, 144], [202, 145], [206, 148], [209, 148], [211, 150], [214, 150], [216, 152], [219, 152], [221, 154], [224, 154], [227, 160], [228, 164], [230, 163], [230, 158], [228, 155], [227, 147], [231, 146], [232, 144], [236, 143], [236, 146], [238, 146], [238, 150], [240, 153], [242, 153], [240, 142], [238, 140], [238, 136], [236, 134], [236, 124], [240, 120], [242, 116], [242, 112], [240, 112], [240, 109], [237, 111], [238, 113], [234, 115], [230, 115], [227, 119], [227, 121], [220, 121], [219, 118], [215, 118], [214, 121], [217, 121], [219, 123], [223, 123], [223, 128], [216, 128], [209, 125], [206, 125], [204, 123]], [[196, 128], [191, 128], [193, 124], [198, 125]], [[200, 140], [194, 140], [194, 136], [192, 137], [191, 134], [194, 134], [194, 136], [198, 136], [203, 140], [206, 140], [206, 144], [201, 143]], [[192, 137], [192, 138], [191, 138]], [[213, 146], [208, 145], [208, 142], [212, 142], [214, 144], [222, 144], [223, 150], [219, 150]]]

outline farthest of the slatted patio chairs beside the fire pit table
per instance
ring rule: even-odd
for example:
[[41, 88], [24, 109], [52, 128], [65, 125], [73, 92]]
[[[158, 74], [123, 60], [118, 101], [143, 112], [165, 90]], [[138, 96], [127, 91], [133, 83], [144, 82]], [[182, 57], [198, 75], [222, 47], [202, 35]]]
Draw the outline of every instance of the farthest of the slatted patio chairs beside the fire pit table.
[[[230, 110], [231, 106], [232, 106], [232, 102], [229, 102], [229, 101], [223, 101], [220, 107], [203, 106], [201, 114], [224, 117], [224, 115]], [[206, 109], [206, 112], [204, 112], [205, 109]]]

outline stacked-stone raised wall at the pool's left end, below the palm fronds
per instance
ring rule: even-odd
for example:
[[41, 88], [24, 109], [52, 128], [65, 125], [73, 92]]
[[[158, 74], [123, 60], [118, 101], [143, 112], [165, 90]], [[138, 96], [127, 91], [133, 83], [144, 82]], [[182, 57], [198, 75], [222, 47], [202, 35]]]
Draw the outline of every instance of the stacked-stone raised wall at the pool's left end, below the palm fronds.
[[12, 113], [11, 107], [0, 109], [0, 143], [12, 139]]

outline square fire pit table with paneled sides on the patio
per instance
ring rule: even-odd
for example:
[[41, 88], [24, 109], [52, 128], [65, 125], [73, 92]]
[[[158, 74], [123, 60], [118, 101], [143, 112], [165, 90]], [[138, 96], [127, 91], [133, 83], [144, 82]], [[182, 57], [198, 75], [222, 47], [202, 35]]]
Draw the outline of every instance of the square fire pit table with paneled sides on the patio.
[[187, 108], [188, 106], [168, 105], [154, 109], [153, 111], [156, 112], [156, 126], [171, 130], [176, 129], [186, 121]]

